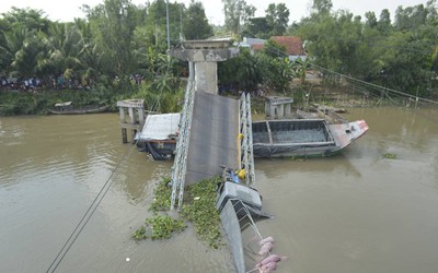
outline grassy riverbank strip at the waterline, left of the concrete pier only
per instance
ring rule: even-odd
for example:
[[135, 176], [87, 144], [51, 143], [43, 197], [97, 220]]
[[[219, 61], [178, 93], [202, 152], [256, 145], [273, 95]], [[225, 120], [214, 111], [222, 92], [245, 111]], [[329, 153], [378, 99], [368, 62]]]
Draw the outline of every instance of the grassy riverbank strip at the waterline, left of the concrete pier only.
[[117, 100], [145, 99], [145, 107], [161, 112], [180, 111], [184, 100], [181, 82], [168, 86], [171, 91], [153, 87], [153, 82], [122, 86], [96, 85], [88, 90], [0, 91], [0, 116], [47, 115], [57, 103], [72, 102], [76, 107], [106, 105], [108, 111], [118, 110]]

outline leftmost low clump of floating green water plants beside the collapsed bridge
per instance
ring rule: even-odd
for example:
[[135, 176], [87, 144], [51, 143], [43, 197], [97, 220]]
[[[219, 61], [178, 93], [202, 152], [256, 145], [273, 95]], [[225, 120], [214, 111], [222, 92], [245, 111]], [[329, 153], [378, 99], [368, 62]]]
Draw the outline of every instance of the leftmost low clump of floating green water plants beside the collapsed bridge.
[[141, 226], [132, 234], [134, 239], [169, 239], [173, 233], [182, 232], [186, 227], [184, 222], [181, 219], [174, 219], [171, 216], [161, 215], [147, 218], [145, 223], [145, 226]]

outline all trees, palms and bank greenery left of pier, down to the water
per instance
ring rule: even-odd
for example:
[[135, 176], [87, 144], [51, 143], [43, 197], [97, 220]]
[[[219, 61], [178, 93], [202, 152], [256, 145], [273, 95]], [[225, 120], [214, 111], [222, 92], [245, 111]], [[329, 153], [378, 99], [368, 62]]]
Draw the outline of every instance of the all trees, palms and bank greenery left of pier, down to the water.
[[[2, 14], [0, 115], [45, 114], [60, 100], [114, 105], [122, 98], [143, 98], [149, 110], [180, 110], [184, 63], [165, 55], [165, 1], [136, 7], [105, 0], [82, 10], [87, 20], [69, 23], [33, 9]], [[211, 35], [199, 2], [188, 9], [171, 3], [170, 19], [171, 46], [181, 36]]]

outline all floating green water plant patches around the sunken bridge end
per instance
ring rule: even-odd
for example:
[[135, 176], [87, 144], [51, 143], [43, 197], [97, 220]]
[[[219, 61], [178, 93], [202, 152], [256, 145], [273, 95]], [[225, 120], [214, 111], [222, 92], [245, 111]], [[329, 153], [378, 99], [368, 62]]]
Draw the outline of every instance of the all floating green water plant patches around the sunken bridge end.
[[[219, 181], [220, 177], [214, 177], [186, 187], [181, 211], [182, 216], [195, 226], [197, 237], [215, 249], [219, 248], [221, 239], [220, 215], [216, 209], [216, 188]], [[163, 178], [158, 185], [149, 209], [155, 215], [147, 218], [146, 225], [134, 232], [134, 239], [168, 239], [173, 233], [182, 232], [186, 227], [181, 219], [158, 215], [159, 212], [169, 211], [171, 206], [172, 188], [169, 182], [169, 178]]]

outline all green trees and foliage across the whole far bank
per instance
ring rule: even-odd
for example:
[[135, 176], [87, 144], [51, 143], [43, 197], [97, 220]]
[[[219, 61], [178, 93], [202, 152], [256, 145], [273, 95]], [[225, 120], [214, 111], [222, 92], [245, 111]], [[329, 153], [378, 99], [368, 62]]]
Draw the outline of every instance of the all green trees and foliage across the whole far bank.
[[[226, 32], [237, 39], [286, 34], [301, 37], [308, 59], [288, 61], [284, 48], [272, 40], [258, 54], [242, 49], [240, 57], [219, 63], [221, 90], [262, 86], [289, 92], [291, 79], [301, 79], [303, 85], [306, 70], [313, 69], [326, 84], [336, 83], [343, 74], [413, 95], [437, 95], [436, 0], [400, 7], [393, 22], [388, 10], [379, 15], [367, 12], [362, 19], [345, 10], [334, 11], [331, 0], [313, 0], [310, 15], [289, 27], [290, 12], [284, 3], [268, 4], [262, 17], [254, 17], [255, 8], [244, 0], [222, 3], [223, 27], [208, 24], [200, 2], [192, 1], [188, 8], [169, 3], [171, 46], [182, 37], [201, 39]], [[46, 112], [57, 102], [51, 97], [55, 94], [79, 105], [145, 98], [148, 109], [177, 110], [183, 95], [178, 79], [186, 63], [165, 55], [166, 1], [137, 7], [130, 0], [103, 0], [82, 10], [87, 20], [69, 23], [51, 22], [43, 11], [33, 9], [13, 8], [2, 14], [0, 78], [16, 84], [8, 82], [0, 90], [36, 94], [2, 94], [0, 114]], [[27, 79], [38, 79], [39, 85], [25, 85]], [[78, 90], [78, 94], [66, 88]], [[41, 94], [42, 90], [58, 93]], [[91, 91], [94, 93], [82, 94]]]

